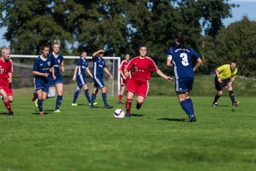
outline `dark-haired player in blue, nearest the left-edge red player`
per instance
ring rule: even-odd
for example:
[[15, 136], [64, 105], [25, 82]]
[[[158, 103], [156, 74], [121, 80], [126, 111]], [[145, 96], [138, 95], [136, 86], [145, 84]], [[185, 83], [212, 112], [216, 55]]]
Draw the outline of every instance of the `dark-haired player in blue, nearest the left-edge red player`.
[[38, 108], [39, 115], [43, 115], [43, 100], [46, 100], [49, 89], [49, 76], [50, 70], [52, 71], [53, 79], [55, 79], [55, 73], [53, 70], [53, 61], [48, 53], [50, 51], [50, 46], [43, 45], [41, 48], [41, 55], [36, 58], [33, 64], [32, 73], [35, 75], [34, 84], [35, 90], [38, 95]]

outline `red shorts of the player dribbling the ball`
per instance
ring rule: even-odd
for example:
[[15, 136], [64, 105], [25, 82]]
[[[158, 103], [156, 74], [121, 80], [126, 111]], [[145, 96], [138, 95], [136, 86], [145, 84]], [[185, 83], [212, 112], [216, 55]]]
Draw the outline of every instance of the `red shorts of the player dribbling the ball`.
[[146, 98], [149, 92], [149, 81], [144, 78], [132, 78], [127, 86], [128, 91]]

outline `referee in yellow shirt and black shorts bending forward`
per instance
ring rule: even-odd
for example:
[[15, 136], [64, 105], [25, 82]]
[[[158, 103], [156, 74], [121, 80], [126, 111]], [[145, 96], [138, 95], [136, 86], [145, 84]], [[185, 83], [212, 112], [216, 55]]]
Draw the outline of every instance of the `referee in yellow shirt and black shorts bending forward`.
[[230, 64], [224, 64], [215, 69], [215, 88], [218, 90], [218, 93], [215, 95], [213, 101], [213, 106], [217, 106], [217, 100], [223, 95], [223, 87], [228, 89], [230, 99], [232, 101], [233, 107], [238, 106], [239, 101], [235, 101], [235, 95], [232, 88], [232, 83], [235, 81], [235, 77], [238, 74], [238, 68], [236, 68], [237, 62], [230, 61]]

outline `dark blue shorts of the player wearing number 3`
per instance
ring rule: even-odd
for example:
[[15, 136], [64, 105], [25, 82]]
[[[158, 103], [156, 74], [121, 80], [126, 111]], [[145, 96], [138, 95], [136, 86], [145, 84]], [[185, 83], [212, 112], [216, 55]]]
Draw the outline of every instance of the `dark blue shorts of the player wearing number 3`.
[[193, 78], [179, 78], [175, 81], [176, 93], [185, 93], [193, 88]]

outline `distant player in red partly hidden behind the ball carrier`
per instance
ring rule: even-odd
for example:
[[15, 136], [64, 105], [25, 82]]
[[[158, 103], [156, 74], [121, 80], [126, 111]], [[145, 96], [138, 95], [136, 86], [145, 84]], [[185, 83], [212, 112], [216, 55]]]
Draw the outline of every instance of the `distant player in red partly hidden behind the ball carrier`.
[[124, 56], [124, 60], [121, 62], [120, 68], [119, 68], [119, 71], [120, 71], [120, 74], [121, 74], [121, 77], [120, 77], [121, 90], [119, 92], [119, 105], [123, 104], [122, 103], [122, 98], [124, 96], [125, 86], [128, 85], [130, 78], [132, 78], [131, 72], [129, 72], [128, 77], [124, 76], [124, 68], [128, 65], [129, 58], [130, 58], [129, 53], [126, 53], [125, 56]]

